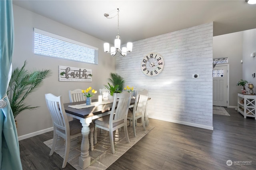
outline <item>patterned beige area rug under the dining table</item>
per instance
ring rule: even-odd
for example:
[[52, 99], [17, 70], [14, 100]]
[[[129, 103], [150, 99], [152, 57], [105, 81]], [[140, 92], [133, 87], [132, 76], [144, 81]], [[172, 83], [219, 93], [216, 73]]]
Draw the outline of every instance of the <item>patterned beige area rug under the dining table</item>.
[[[124, 128], [121, 128], [120, 131], [116, 130], [114, 133], [115, 154], [112, 154], [111, 151], [109, 132], [103, 130], [101, 134], [100, 128], [97, 128], [97, 144], [94, 145], [93, 151], [89, 150], [89, 154], [91, 156], [91, 165], [85, 170], [105, 170], [153, 128], [153, 126], [146, 126], [146, 131], [144, 131], [142, 124], [137, 123], [136, 137], [134, 137], [132, 126], [127, 126], [130, 143], [126, 142]], [[82, 170], [78, 166], [78, 158], [81, 153], [81, 140], [80, 142], [77, 142], [76, 139], [71, 140], [70, 152], [68, 156], [68, 163], [77, 170]], [[46, 144], [49, 148], [52, 148], [52, 141], [53, 139], [47, 140], [44, 142], [44, 144]], [[56, 147], [54, 152], [63, 158], [65, 145]]]

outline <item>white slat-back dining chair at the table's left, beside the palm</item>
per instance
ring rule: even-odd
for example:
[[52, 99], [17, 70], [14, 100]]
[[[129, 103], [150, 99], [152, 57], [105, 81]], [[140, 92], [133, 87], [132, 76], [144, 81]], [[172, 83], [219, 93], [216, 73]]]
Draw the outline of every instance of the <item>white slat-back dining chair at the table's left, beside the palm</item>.
[[[48, 110], [52, 116], [52, 124], [53, 124], [53, 142], [52, 149], [50, 151], [50, 156], [53, 154], [58, 136], [65, 139], [65, 154], [64, 160], [62, 164], [62, 168], [66, 167], [68, 154], [70, 150], [70, 139], [81, 136], [82, 124], [80, 120], [72, 120], [68, 121], [68, 117], [66, 115], [62, 96], [54, 96], [53, 94], [45, 94], [45, 100], [48, 107]], [[93, 124], [90, 124], [90, 129], [93, 129]], [[93, 130], [92, 130], [93, 131]]]

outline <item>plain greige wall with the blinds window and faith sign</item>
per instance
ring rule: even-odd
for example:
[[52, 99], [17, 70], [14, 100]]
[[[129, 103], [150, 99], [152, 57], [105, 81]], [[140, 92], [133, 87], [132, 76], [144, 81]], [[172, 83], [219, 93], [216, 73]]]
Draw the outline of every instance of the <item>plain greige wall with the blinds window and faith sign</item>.
[[[18, 136], [38, 132], [52, 127], [52, 119], [46, 108], [44, 94], [52, 93], [62, 96], [63, 102], [69, 102], [68, 90], [76, 88], [86, 89], [89, 86], [98, 90], [108, 82], [110, 72], [115, 72], [115, 58], [104, 53], [103, 41], [58, 22], [13, 5], [14, 10], [14, 55], [12, 60], [13, 69], [21, 67], [27, 60], [27, 69], [51, 69], [53, 75], [44, 80], [44, 85], [36, 92], [33, 92], [26, 99], [31, 106], [40, 106], [36, 110], [25, 110], [21, 112], [16, 120], [18, 121]], [[76, 40], [90, 46], [99, 48], [98, 65], [62, 60], [34, 54], [34, 27], [57, 34], [72, 40]], [[59, 82], [58, 66], [71, 66], [78, 68], [92, 69], [92, 82]], [[93, 98], [96, 98], [94, 96]], [[41, 133], [41, 132], [39, 132]], [[26, 138], [26, 137], [25, 137]]]

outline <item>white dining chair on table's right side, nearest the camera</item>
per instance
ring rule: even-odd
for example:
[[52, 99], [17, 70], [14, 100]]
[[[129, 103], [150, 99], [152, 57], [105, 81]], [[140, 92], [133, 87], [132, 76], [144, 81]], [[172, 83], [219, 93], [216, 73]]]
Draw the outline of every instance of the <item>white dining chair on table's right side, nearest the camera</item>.
[[[116, 106], [117, 100], [118, 100], [118, 103]], [[109, 131], [112, 154], [115, 154], [113, 131], [115, 131], [116, 129], [124, 127], [126, 141], [127, 143], [130, 143], [130, 140], [128, 137], [128, 131], [127, 131], [127, 114], [128, 114], [130, 102], [131, 102], [131, 93], [129, 92], [114, 93], [114, 102], [113, 102], [110, 114], [107, 116], [98, 118], [94, 121], [95, 129], [101, 128]], [[96, 134], [94, 133], [94, 136], [96, 135], [97, 133]]]

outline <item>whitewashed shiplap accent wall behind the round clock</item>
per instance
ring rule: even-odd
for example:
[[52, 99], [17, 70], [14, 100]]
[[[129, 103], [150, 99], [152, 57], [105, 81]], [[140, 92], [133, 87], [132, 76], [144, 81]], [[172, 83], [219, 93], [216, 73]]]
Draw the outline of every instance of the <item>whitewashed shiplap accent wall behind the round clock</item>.
[[[139, 40], [130, 54], [116, 57], [116, 72], [125, 85], [149, 91], [149, 118], [213, 130], [212, 41], [212, 22]], [[150, 52], [164, 58], [164, 69], [154, 77], [140, 69]]]

